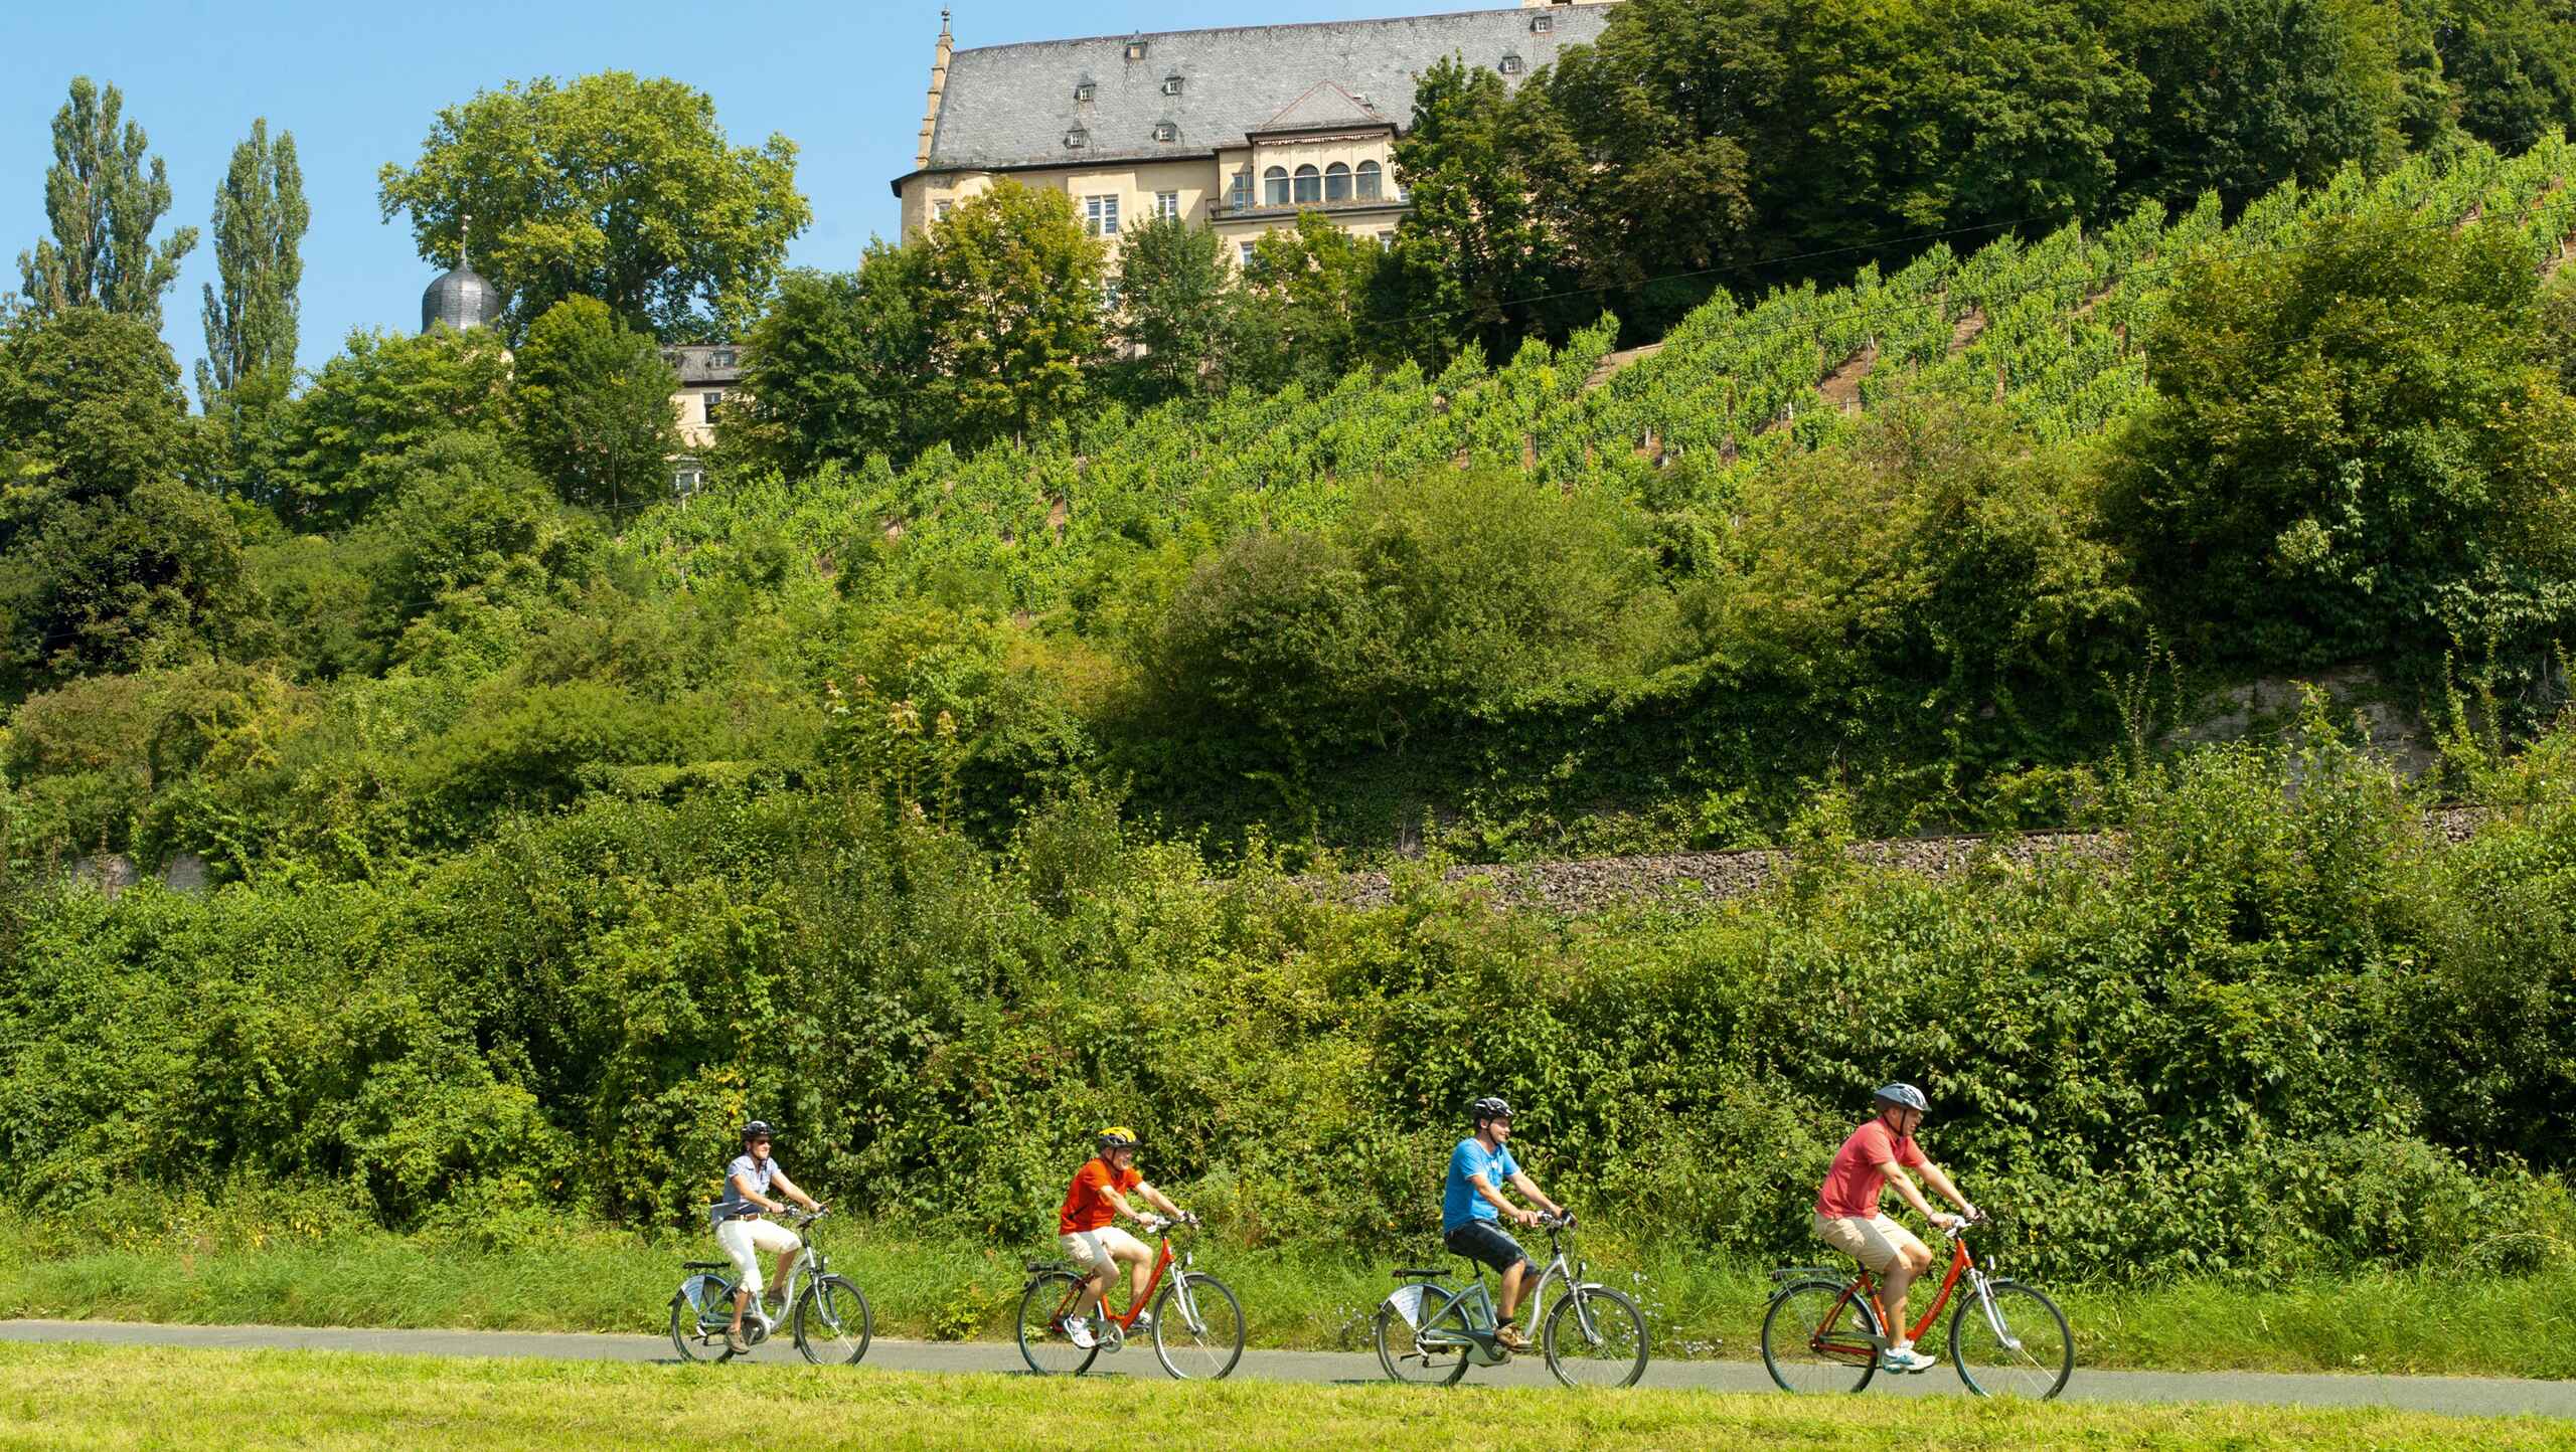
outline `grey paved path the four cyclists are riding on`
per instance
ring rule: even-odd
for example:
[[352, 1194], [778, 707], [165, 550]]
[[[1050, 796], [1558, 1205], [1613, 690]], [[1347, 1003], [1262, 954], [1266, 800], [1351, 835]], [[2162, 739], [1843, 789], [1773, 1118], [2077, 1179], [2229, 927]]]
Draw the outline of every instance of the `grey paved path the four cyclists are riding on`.
[[[567, 1362], [677, 1362], [662, 1336], [585, 1336], [556, 1331], [353, 1331], [304, 1326], [152, 1326], [134, 1321], [0, 1321], [0, 1341], [100, 1341], [111, 1346], [224, 1346], [379, 1352], [407, 1357], [549, 1357]], [[796, 1346], [770, 1341], [755, 1362], [796, 1362]], [[1020, 1372], [1020, 1349], [1007, 1341], [894, 1341], [878, 1339], [855, 1370], [896, 1372]], [[1164, 1380], [1149, 1346], [1100, 1357], [1090, 1375]], [[1236, 1377], [1275, 1382], [1376, 1382], [1378, 1359], [1365, 1352], [1244, 1352]], [[1476, 1367], [1471, 1385], [1556, 1385], [1546, 1362], [1517, 1357], [1507, 1367]], [[1752, 1362], [1651, 1362], [1646, 1382], [1728, 1393], [1770, 1393], [1770, 1377]], [[1947, 1364], [1917, 1375], [1870, 1380], [1868, 1395], [1960, 1395]], [[1777, 1393], [1772, 1393], [1777, 1395]], [[2396, 1406], [2481, 1416], [2571, 1416], [2576, 1382], [2509, 1377], [2362, 1377], [2277, 1372], [2092, 1372], [2076, 1367], [2069, 1398], [2081, 1401], [2233, 1401], [2269, 1406]]]

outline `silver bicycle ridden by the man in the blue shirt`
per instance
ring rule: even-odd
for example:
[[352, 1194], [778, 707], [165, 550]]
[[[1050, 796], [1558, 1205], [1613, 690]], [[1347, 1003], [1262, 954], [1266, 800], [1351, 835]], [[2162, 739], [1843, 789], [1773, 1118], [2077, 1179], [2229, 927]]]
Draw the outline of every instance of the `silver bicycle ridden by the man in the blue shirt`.
[[[1628, 1388], [1646, 1375], [1646, 1316], [1633, 1300], [1607, 1285], [1584, 1280], [1574, 1254], [1574, 1215], [1543, 1215], [1548, 1231], [1548, 1269], [1530, 1287], [1530, 1326], [1548, 1370], [1569, 1388]], [[1450, 1385], [1468, 1367], [1499, 1367], [1512, 1352], [1494, 1339], [1494, 1298], [1484, 1287], [1484, 1267], [1468, 1261], [1476, 1280], [1455, 1285], [1440, 1267], [1406, 1267], [1406, 1282], [1378, 1305], [1378, 1364], [1399, 1382]], [[1548, 1287], [1564, 1300], [1548, 1310]]]

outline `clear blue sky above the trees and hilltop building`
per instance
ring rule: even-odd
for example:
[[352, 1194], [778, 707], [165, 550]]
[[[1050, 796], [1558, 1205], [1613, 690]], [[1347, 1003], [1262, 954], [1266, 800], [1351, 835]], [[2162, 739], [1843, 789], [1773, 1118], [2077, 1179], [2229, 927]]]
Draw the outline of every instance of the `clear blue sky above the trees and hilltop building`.
[[[1473, 0], [951, 0], [958, 46], [1476, 8]], [[49, 126], [75, 75], [116, 82], [126, 116], [170, 165], [173, 224], [206, 227], [214, 185], [255, 116], [294, 131], [314, 221], [304, 237], [301, 363], [350, 327], [420, 324], [435, 275], [404, 219], [381, 221], [376, 170], [412, 162], [440, 106], [536, 75], [634, 70], [716, 98], [737, 144], [783, 131], [814, 227], [791, 260], [850, 268], [891, 234], [886, 183], [912, 167], [938, 0], [677, 5], [665, 0], [0, 0], [0, 288], [44, 234]], [[204, 353], [201, 239], [162, 301], [165, 337], [191, 368]]]

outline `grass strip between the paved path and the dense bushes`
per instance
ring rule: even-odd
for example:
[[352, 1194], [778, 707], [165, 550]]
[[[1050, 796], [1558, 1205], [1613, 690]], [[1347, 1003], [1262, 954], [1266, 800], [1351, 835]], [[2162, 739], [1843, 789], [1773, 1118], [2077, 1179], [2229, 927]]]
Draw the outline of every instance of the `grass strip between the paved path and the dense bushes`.
[[[881, 1336], [1010, 1334], [1018, 1251], [866, 1225], [840, 1225], [824, 1246], [866, 1287]], [[1759, 1269], [1595, 1251], [1595, 1274], [1646, 1308], [1659, 1357], [1759, 1354], [1770, 1292]], [[567, 1228], [544, 1249], [505, 1251], [389, 1233], [268, 1243], [170, 1233], [88, 1249], [75, 1225], [0, 1220], [0, 1316], [649, 1334], [665, 1326], [683, 1254], [711, 1259], [714, 1246]], [[1391, 1287], [1376, 1261], [1316, 1251], [1211, 1243], [1200, 1264], [1242, 1295], [1255, 1346], [1363, 1349]], [[2576, 1377], [2571, 1269], [2048, 1290], [2087, 1367]]]

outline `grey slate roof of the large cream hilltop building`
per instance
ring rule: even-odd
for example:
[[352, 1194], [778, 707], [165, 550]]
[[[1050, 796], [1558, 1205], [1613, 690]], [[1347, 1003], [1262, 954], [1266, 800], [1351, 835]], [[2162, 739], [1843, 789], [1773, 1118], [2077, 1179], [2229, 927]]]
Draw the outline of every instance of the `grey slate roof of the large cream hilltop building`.
[[[961, 49], [948, 59], [930, 162], [920, 170], [1206, 157], [1218, 147], [1242, 147], [1249, 131], [1265, 129], [1327, 80], [1386, 121], [1409, 126], [1414, 77], [1443, 57], [1499, 70], [1504, 54], [1517, 54], [1525, 77], [1553, 64], [1564, 46], [1600, 39], [1610, 10], [1461, 10]], [[1548, 15], [1553, 28], [1530, 31], [1533, 15]], [[1126, 59], [1133, 41], [1144, 41], [1144, 59]], [[1180, 95], [1164, 95], [1167, 77], [1180, 77]], [[1082, 82], [1092, 85], [1092, 100], [1074, 100]], [[1154, 139], [1162, 121], [1177, 129], [1177, 139]], [[1064, 144], [1072, 129], [1084, 131], [1079, 149]]]

